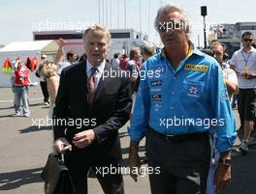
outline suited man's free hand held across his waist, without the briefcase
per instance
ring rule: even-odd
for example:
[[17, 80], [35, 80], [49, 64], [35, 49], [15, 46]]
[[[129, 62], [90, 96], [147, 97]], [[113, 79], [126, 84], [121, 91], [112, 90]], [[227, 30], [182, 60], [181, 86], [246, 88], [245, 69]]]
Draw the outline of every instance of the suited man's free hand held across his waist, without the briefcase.
[[89, 146], [95, 139], [95, 133], [92, 129], [83, 130], [77, 133], [73, 138], [73, 144], [79, 149]]

